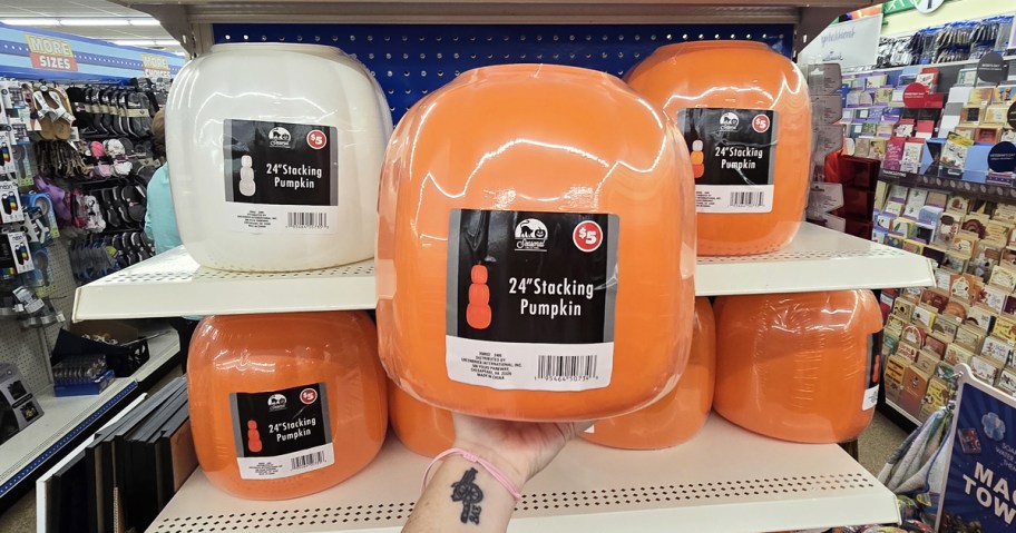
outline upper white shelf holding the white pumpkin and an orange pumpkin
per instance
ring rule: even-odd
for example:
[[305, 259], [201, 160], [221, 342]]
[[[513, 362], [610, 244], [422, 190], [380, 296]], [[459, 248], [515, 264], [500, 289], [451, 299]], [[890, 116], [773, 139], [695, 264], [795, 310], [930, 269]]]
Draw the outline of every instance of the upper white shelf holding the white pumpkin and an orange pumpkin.
[[[75, 320], [372, 309], [373, 261], [291, 274], [203, 268], [183, 248], [79, 287]], [[804, 224], [785, 249], [701, 257], [698, 296], [802, 293], [935, 284], [921, 256]]]

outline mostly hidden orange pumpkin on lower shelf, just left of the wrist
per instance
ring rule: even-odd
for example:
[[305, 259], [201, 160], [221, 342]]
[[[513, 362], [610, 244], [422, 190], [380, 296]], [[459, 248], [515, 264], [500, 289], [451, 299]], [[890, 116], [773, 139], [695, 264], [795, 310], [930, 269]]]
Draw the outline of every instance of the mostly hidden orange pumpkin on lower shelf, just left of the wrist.
[[455, 442], [450, 412], [420, 402], [394, 383], [388, 385], [388, 418], [399, 441], [420, 455], [433, 457]]

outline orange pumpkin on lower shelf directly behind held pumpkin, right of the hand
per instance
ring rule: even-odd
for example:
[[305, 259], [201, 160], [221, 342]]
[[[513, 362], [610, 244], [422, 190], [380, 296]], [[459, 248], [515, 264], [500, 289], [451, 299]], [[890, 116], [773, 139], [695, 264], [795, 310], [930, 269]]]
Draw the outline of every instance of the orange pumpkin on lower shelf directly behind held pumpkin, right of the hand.
[[716, 324], [709, 298], [695, 298], [692, 353], [677, 386], [658, 402], [632, 414], [597, 421], [586, 441], [626, 450], [662, 450], [688, 441], [713, 405], [716, 378]]

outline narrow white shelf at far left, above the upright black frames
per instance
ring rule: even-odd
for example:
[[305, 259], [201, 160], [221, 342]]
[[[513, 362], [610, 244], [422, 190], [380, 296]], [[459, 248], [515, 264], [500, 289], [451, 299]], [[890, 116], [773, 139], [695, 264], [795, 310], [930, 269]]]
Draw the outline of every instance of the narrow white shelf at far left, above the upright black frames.
[[114, 379], [97, 395], [56, 397], [51, 389], [37, 394], [42, 417], [0, 445], [0, 497], [129, 395], [138, 379], [165, 365], [179, 351], [179, 340], [175, 334], [163, 335], [152, 339], [149, 351], [148, 362], [133, 376]]

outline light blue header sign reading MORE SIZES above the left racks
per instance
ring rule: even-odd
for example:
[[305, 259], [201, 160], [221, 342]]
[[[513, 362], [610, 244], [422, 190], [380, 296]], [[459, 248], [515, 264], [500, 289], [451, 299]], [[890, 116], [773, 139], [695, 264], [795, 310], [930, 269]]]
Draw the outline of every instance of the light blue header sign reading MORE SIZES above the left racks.
[[20, 79], [119, 81], [173, 77], [186, 60], [145, 48], [55, 31], [0, 24], [0, 76]]

